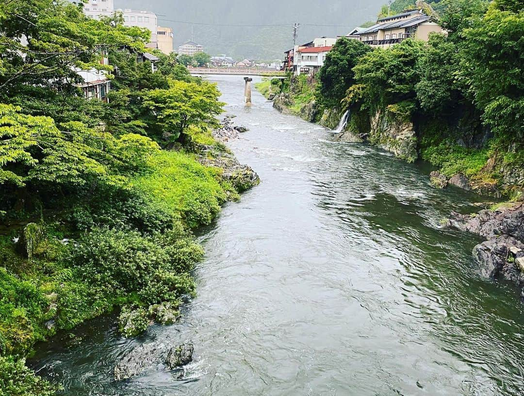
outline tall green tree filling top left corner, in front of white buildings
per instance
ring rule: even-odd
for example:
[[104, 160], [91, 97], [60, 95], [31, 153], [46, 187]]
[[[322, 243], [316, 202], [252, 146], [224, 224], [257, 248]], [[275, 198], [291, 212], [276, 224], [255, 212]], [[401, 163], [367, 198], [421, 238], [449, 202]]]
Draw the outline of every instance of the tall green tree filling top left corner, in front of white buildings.
[[144, 47], [147, 29], [90, 19], [80, 7], [52, 0], [0, 2], [0, 99], [14, 97], [24, 85], [73, 85], [80, 80], [75, 68], [112, 69], [101, 65], [102, 51]]

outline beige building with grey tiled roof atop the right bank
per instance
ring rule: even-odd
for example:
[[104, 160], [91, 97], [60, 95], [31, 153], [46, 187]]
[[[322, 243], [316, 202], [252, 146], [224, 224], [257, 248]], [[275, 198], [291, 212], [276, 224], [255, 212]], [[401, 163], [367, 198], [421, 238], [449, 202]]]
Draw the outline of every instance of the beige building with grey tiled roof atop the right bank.
[[354, 36], [372, 47], [389, 47], [406, 38], [428, 41], [430, 33], [442, 33], [444, 29], [422, 10], [407, 10], [377, 20], [368, 28], [354, 32]]

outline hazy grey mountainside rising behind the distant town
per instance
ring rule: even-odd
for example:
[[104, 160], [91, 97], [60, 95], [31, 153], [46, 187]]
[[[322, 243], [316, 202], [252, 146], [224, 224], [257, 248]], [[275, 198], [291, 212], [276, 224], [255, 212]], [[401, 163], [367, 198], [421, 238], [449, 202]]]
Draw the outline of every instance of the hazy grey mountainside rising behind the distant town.
[[[375, 20], [386, 0], [115, 0], [117, 8], [149, 9], [161, 26], [174, 31], [175, 48], [191, 39], [212, 55], [234, 58], [281, 59], [293, 44], [292, 25], [300, 23], [298, 42], [314, 37], [344, 35], [367, 20]], [[145, 5], [147, 4], [147, 5]], [[179, 22], [170, 22], [179, 21]], [[232, 25], [232, 26], [217, 26]], [[250, 25], [250, 26], [239, 26]], [[283, 26], [253, 26], [283, 25]], [[313, 26], [331, 25], [331, 26]], [[339, 26], [333, 26], [339, 25]]]

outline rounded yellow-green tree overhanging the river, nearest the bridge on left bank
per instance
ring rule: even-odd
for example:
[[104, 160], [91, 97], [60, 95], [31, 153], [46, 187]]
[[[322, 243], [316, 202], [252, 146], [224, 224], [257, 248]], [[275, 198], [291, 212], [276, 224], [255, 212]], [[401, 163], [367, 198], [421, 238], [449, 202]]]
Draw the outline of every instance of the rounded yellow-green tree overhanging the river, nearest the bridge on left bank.
[[149, 110], [149, 126], [158, 139], [187, 141], [190, 125], [216, 126], [215, 116], [225, 103], [219, 102], [220, 92], [215, 84], [172, 80], [169, 89], [144, 93], [143, 106]]

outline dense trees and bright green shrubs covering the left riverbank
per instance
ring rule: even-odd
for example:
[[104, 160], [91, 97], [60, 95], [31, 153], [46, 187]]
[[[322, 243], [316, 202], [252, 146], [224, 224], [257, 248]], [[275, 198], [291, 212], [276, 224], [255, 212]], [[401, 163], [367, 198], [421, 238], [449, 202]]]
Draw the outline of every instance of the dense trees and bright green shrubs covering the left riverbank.
[[[149, 31], [82, 6], [0, 0], [0, 395], [54, 393], [24, 357], [57, 330], [193, 295], [190, 229], [238, 197], [191, 152], [225, 149], [216, 86], [149, 50], [153, 72]], [[111, 79], [108, 100], [80, 70]]]

